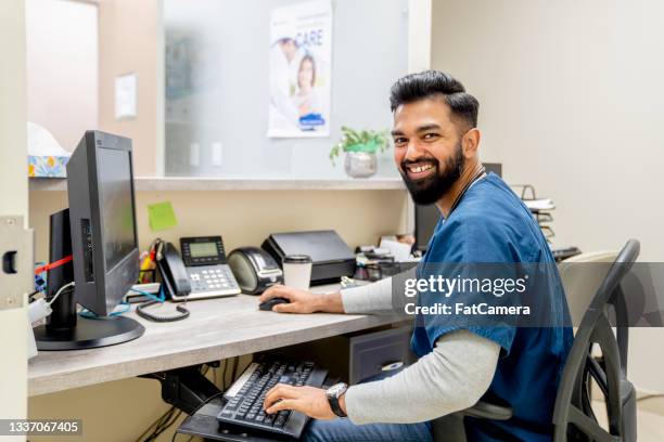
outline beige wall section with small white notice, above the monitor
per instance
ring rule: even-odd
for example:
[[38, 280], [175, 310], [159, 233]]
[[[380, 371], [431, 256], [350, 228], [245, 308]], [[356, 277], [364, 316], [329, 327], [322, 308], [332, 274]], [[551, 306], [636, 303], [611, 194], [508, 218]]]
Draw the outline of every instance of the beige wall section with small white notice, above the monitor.
[[[133, 172], [163, 171], [164, 67], [162, 0], [99, 2], [99, 127], [132, 140]], [[159, 65], [162, 63], [162, 65]], [[115, 118], [115, 79], [136, 74], [137, 115]]]

